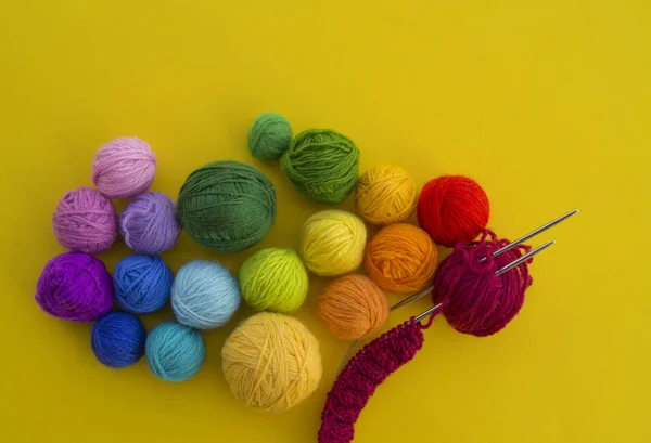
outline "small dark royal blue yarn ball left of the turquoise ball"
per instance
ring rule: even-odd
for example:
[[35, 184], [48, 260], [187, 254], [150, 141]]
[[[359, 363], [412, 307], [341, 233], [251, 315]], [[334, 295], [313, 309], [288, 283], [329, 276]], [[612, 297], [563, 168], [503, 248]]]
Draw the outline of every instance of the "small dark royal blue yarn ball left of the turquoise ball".
[[92, 327], [92, 352], [100, 363], [120, 368], [136, 364], [144, 355], [146, 331], [137, 316], [110, 312]]

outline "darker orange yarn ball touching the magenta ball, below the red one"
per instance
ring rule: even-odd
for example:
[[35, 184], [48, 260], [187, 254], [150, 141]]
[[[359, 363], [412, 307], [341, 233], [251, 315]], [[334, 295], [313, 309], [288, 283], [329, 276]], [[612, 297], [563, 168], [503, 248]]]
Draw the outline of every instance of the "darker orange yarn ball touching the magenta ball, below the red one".
[[363, 268], [382, 289], [411, 294], [426, 288], [438, 263], [438, 251], [426, 232], [411, 224], [383, 227], [367, 246]]

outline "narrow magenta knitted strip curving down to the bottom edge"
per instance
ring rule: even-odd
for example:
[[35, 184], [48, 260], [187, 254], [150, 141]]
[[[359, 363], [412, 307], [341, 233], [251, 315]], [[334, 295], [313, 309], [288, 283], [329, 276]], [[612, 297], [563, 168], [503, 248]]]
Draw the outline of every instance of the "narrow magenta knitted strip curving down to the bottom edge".
[[355, 422], [375, 389], [422, 348], [424, 327], [413, 318], [363, 347], [346, 365], [328, 394], [319, 443], [348, 443]]

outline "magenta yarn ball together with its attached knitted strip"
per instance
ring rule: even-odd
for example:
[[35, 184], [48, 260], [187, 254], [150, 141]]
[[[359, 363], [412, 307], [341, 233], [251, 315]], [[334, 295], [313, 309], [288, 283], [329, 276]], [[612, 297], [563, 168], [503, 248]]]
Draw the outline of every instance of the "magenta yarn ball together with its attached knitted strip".
[[[531, 260], [496, 276], [531, 247], [520, 245], [497, 258], [490, 255], [508, 245], [492, 231], [477, 242], [461, 242], [438, 266], [433, 299], [442, 303], [423, 325], [412, 320], [376, 338], [346, 365], [328, 394], [321, 415], [319, 443], [349, 443], [354, 425], [375, 389], [422, 348], [422, 329], [443, 312], [452, 327], [464, 334], [489, 336], [503, 328], [520, 311], [532, 284]], [[481, 260], [487, 258], [484, 262]]]

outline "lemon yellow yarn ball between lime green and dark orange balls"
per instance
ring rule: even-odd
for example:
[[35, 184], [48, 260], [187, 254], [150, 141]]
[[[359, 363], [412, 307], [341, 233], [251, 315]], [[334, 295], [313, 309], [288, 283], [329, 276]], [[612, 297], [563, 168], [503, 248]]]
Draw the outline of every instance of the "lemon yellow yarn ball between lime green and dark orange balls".
[[350, 212], [317, 212], [303, 225], [303, 260], [307, 268], [318, 275], [347, 274], [361, 264], [366, 239], [363, 222]]

